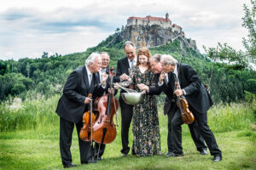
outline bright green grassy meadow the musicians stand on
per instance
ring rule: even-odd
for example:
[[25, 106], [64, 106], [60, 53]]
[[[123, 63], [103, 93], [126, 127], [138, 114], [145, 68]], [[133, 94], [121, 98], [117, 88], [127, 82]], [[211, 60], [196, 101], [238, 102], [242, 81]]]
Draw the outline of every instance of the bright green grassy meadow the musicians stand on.
[[[40, 99], [22, 104], [21, 111], [2, 105], [0, 112], [0, 169], [62, 169], [59, 150], [59, 118], [55, 115], [53, 100]], [[37, 107], [37, 105], [43, 105]], [[30, 112], [32, 111], [34, 112]], [[161, 150], [167, 150], [167, 117], [159, 108]], [[16, 114], [16, 116], [13, 116]], [[19, 114], [23, 114], [19, 116]], [[43, 114], [43, 115], [42, 115]], [[107, 144], [103, 160], [81, 165], [77, 133], [73, 133], [72, 169], [256, 169], [255, 105], [214, 106], [208, 113], [208, 122], [223, 151], [223, 161], [213, 162], [212, 156], [201, 156], [195, 149], [187, 125], [183, 125], [183, 157], [148, 156], [122, 157], [119, 150], [120, 124], [112, 144]], [[12, 116], [12, 117], [11, 117]], [[9, 118], [7, 118], [9, 117]], [[20, 117], [15, 119], [15, 117]], [[21, 117], [26, 117], [24, 120]], [[3, 127], [12, 127], [13, 130]], [[22, 125], [22, 122], [23, 125]], [[120, 116], [119, 116], [120, 122]], [[15, 127], [15, 123], [17, 124]], [[20, 129], [19, 129], [20, 127]], [[130, 135], [132, 141], [132, 133]], [[131, 145], [131, 144], [130, 144]], [[130, 153], [131, 154], [131, 153]]]

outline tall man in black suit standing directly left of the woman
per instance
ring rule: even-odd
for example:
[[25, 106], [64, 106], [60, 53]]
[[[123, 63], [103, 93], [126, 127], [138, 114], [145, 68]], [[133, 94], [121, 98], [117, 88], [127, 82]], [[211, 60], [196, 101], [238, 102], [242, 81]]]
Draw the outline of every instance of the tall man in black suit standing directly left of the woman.
[[[136, 45], [133, 42], [127, 41], [124, 45], [126, 57], [119, 59], [117, 64], [117, 72], [115, 82], [120, 82], [129, 79], [129, 71], [131, 71], [137, 65], [136, 56]], [[121, 90], [121, 94], [124, 93]], [[124, 100], [119, 96], [119, 105], [121, 108], [122, 127], [121, 127], [121, 138], [122, 138], [122, 150], [123, 156], [128, 156], [130, 151], [129, 147], [129, 128], [132, 119], [132, 105], [125, 104]], [[132, 148], [131, 148], [131, 154]]]

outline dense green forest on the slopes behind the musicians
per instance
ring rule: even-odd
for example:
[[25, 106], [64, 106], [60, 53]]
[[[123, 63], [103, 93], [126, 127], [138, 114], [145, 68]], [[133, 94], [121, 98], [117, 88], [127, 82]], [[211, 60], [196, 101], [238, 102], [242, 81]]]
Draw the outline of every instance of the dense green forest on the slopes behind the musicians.
[[[109, 37], [95, 48], [88, 48], [84, 53], [49, 56], [44, 52], [40, 59], [0, 59], [0, 102], [15, 96], [26, 99], [37, 94], [46, 98], [61, 94], [68, 75], [80, 65], [84, 65], [85, 59], [92, 52], [107, 51], [110, 54], [110, 66], [116, 68], [117, 60], [125, 56], [121, 44], [123, 42], [105, 48], [108, 39]], [[177, 60], [180, 59], [180, 50], [177, 41], [150, 48], [151, 54], [172, 54]], [[201, 81], [208, 83], [213, 65], [211, 59], [191, 48], [185, 50], [183, 63], [192, 65]], [[234, 70], [230, 65], [221, 63], [215, 65], [211, 84], [211, 95], [215, 102], [230, 103], [243, 100], [245, 91], [255, 94], [255, 72], [246, 69]]]

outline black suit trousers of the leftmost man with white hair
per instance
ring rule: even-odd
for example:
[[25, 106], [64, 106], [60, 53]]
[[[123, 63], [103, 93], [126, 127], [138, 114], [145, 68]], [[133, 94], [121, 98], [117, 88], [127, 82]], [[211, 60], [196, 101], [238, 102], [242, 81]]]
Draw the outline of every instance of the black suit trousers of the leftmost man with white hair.
[[[76, 125], [77, 132], [79, 134], [81, 127], [83, 127], [83, 122], [68, 122], [60, 117], [60, 150], [63, 165], [69, 165], [72, 163], [70, 147], [72, 144], [74, 124]], [[79, 139], [79, 151], [81, 163], [86, 163], [91, 155], [90, 142], [84, 142]]]

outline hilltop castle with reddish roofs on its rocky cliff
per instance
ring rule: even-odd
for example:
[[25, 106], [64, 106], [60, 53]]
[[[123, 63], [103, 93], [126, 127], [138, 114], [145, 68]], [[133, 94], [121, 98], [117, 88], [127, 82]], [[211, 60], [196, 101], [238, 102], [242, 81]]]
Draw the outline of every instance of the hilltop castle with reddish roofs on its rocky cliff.
[[168, 13], [165, 18], [150, 15], [144, 18], [131, 16], [117, 37], [118, 42], [129, 40], [135, 42], [138, 48], [160, 46], [172, 42], [173, 39], [181, 42], [183, 47], [198, 50], [195, 40], [186, 38], [182, 27], [172, 24]]

